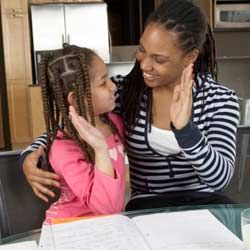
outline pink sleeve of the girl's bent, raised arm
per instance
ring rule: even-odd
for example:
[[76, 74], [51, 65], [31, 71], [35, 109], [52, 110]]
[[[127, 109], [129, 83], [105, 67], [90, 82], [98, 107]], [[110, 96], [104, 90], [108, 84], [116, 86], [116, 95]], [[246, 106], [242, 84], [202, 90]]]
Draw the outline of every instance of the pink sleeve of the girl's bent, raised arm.
[[50, 163], [75, 196], [93, 213], [121, 212], [124, 208], [124, 173], [116, 178], [103, 174], [84, 160], [81, 149], [70, 140], [56, 140]]

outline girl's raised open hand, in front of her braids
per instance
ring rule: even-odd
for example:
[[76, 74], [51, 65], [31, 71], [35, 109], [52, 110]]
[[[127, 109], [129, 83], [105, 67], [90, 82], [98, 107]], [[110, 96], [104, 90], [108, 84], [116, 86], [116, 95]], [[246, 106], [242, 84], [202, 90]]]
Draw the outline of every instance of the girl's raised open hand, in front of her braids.
[[103, 134], [96, 127], [93, 127], [88, 123], [83, 117], [79, 116], [73, 106], [69, 107], [69, 115], [80, 137], [95, 151], [107, 149], [107, 144]]

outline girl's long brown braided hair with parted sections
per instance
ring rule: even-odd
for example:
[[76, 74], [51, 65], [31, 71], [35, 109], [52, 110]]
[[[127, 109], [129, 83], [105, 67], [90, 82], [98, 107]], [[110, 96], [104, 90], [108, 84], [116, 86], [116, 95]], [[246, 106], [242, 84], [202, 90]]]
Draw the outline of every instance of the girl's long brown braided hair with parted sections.
[[[42, 56], [39, 65], [39, 82], [47, 131], [47, 160], [50, 147], [57, 138], [57, 132], [61, 131], [64, 139], [72, 139], [79, 145], [86, 161], [94, 163], [93, 148], [81, 139], [69, 118], [67, 96], [71, 91], [74, 92], [77, 113], [95, 126], [89, 78], [89, 68], [95, 56], [97, 54], [88, 48], [67, 44], [62, 50], [55, 50]], [[108, 114], [102, 114], [101, 118], [109, 125], [112, 133], [121, 138]], [[64, 131], [65, 128], [67, 133]]]

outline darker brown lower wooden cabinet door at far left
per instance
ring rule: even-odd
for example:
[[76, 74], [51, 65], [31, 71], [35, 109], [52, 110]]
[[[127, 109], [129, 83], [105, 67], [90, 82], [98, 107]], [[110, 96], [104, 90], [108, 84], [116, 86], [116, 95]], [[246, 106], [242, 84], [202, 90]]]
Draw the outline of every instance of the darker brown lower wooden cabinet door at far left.
[[7, 81], [11, 141], [13, 144], [31, 141], [28, 82]]

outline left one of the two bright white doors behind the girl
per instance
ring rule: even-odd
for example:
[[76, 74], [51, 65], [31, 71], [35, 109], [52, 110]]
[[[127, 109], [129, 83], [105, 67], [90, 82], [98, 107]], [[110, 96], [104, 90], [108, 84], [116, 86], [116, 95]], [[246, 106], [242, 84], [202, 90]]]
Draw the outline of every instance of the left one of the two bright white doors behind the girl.
[[62, 48], [65, 40], [64, 5], [32, 5], [31, 19], [35, 51]]

